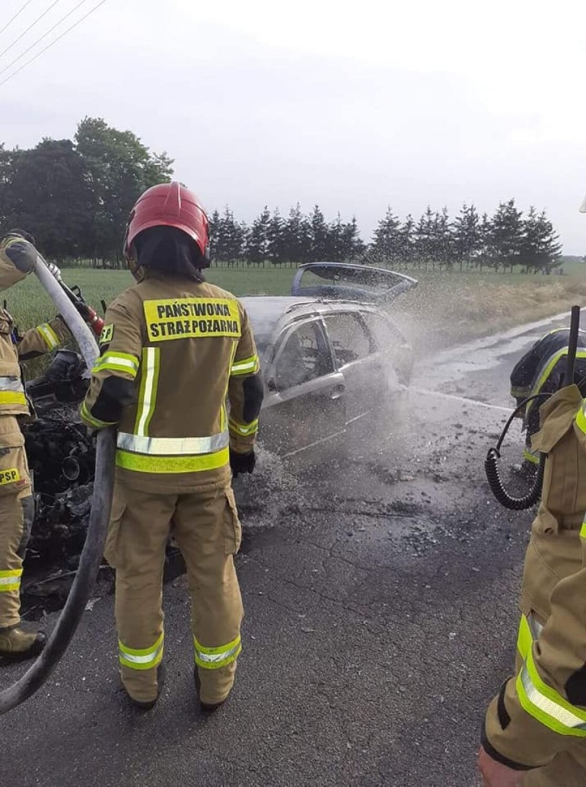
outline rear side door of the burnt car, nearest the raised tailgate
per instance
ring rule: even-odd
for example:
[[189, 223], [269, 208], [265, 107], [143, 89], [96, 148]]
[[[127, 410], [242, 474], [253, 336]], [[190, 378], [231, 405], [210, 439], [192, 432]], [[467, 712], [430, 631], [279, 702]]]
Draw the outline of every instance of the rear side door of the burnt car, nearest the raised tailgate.
[[358, 311], [332, 311], [324, 316], [337, 370], [346, 393], [346, 424], [357, 425], [369, 416], [383, 395], [380, 353]]

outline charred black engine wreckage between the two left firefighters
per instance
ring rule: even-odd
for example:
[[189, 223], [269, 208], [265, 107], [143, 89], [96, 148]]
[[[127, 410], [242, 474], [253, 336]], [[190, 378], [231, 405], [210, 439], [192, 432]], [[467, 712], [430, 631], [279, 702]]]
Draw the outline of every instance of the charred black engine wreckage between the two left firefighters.
[[[46, 374], [26, 384], [36, 415], [32, 423], [21, 425], [35, 495], [23, 593], [24, 616], [29, 619], [61, 608], [86, 538], [96, 437], [81, 422], [78, 410], [88, 386], [87, 368], [72, 350], [60, 350]], [[171, 542], [164, 581], [183, 572], [183, 559]], [[104, 561], [95, 593], [106, 595], [112, 588], [113, 571]]]

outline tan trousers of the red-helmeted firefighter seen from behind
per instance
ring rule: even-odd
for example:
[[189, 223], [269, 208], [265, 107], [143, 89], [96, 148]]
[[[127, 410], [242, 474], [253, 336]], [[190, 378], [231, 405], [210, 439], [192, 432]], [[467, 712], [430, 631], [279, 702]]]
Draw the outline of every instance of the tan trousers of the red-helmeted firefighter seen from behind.
[[175, 539], [187, 567], [200, 700], [225, 700], [241, 650], [243, 605], [234, 555], [240, 527], [230, 486], [194, 493], [145, 493], [117, 482], [106, 540], [116, 570], [115, 614], [121, 678], [142, 702], [157, 696], [164, 648], [165, 548]]

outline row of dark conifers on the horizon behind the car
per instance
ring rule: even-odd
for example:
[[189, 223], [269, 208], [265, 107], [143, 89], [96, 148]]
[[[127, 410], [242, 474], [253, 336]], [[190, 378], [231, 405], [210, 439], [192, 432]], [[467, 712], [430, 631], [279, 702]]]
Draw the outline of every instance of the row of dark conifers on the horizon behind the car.
[[393, 268], [550, 273], [560, 264], [562, 246], [545, 211], [524, 216], [514, 199], [501, 202], [492, 216], [462, 205], [452, 220], [446, 208], [428, 206], [416, 222], [400, 220], [389, 208], [365, 243], [353, 216], [325, 220], [319, 205], [309, 215], [299, 203], [286, 217], [269, 208], [249, 225], [231, 209], [210, 218], [213, 259], [223, 264], [302, 264], [312, 260], [390, 264]]

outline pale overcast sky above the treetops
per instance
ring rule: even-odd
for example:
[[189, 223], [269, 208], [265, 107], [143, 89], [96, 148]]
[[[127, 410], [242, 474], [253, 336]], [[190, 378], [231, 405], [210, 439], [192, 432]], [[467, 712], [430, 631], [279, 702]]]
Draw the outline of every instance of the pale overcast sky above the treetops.
[[[0, 83], [98, 2], [10, 65], [80, 3], [28, 0]], [[0, 0], [0, 29], [24, 3]], [[585, 87], [583, 0], [106, 0], [0, 84], [0, 142], [102, 116], [166, 150], [210, 211], [317, 203], [368, 239], [388, 205], [417, 219], [514, 197], [584, 254]]]

